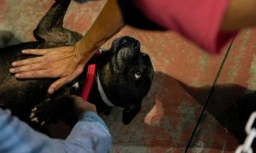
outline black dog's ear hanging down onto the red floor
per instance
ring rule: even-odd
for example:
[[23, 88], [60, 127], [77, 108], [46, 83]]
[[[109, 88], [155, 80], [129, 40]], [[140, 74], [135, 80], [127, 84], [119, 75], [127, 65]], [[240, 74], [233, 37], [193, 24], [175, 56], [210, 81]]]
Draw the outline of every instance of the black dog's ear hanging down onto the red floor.
[[125, 125], [129, 124], [131, 120], [137, 116], [137, 113], [141, 110], [141, 104], [139, 105], [128, 105], [123, 111], [123, 123]]

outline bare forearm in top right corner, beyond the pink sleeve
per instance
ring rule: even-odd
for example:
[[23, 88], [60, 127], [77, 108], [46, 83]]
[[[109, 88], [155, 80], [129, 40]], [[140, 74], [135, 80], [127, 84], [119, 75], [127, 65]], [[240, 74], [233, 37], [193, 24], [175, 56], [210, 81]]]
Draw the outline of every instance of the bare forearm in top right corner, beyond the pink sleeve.
[[237, 31], [242, 28], [256, 26], [255, 16], [255, 0], [230, 0], [220, 30]]

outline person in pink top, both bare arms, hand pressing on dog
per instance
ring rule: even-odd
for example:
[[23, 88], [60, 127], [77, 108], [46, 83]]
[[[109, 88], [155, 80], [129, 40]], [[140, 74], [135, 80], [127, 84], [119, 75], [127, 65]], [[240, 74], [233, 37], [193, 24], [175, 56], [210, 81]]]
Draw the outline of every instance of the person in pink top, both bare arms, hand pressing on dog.
[[[42, 53], [40, 50], [28, 50], [26, 54], [43, 56], [41, 59], [32, 58], [15, 62], [13, 64], [15, 68], [10, 71], [16, 73], [15, 76], [18, 78], [59, 77], [49, 87], [49, 94], [52, 94], [65, 83], [78, 77], [96, 49], [124, 26], [122, 16], [125, 16], [125, 24], [137, 26], [131, 22], [139, 22], [140, 20], [134, 19], [141, 15], [129, 16], [131, 9], [125, 8], [127, 6], [139, 9], [143, 17], [147, 17], [154, 24], [166, 30], [179, 32], [183, 37], [213, 54], [219, 53], [224, 44], [236, 35], [236, 31], [256, 26], [255, 0], [119, 0], [118, 2], [121, 8], [118, 7], [116, 0], [108, 0], [96, 22], [75, 45], [76, 47], [66, 47], [67, 54], [70, 54], [66, 56], [67, 58], [60, 54], [64, 52], [64, 48], [44, 49]], [[127, 2], [131, 5], [126, 5]], [[125, 4], [121, 5], [121, 3]], [[130, 20], [126, 20], [129, 17]], [[146, 25], [148, 26], [148, 22]], [[51, 61], [55, 56], [58, 60]]]

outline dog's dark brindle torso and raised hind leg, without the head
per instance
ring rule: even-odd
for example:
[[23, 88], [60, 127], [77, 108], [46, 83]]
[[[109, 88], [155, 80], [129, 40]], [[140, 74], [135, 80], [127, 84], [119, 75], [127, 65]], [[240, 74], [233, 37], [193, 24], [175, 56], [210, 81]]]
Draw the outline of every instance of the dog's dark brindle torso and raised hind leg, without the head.
[[33, 33], [37, 39], [36, 42], [23, 42], [0, 48], [0, 97], [2, 99], [0, 106], [11, 109], [21, 119], [23, 116], [24, 118], [29, 116], [34, 105], [49, 97], [46, 91], [49, 84], [54, 80], [17, 80], [14, 75], [9, 73], [11, 63], [15, 60], [34, 57], [33, 55], [21, 54], [23, 49], [70, 46], [79, 41], [82, 37], [79, 33], [62, 27], [64, 14], [69, 3], [70, 0], [56, 0], [48, 13], [40, 20]]

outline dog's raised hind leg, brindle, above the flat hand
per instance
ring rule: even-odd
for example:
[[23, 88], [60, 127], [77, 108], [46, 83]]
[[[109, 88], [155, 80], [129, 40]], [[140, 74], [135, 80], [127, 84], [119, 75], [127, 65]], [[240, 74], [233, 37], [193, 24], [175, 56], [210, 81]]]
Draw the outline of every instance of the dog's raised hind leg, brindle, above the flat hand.
[[56, 0], [49, 11], [40, 20], [38, 27], [33, 31], [34, 37], [39, 42], [56, 42], [73, 45], [82, 38], [75, 31], [69, 31], [62, 27], [70, 0]]

